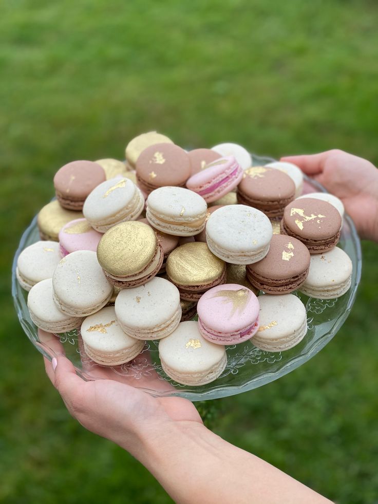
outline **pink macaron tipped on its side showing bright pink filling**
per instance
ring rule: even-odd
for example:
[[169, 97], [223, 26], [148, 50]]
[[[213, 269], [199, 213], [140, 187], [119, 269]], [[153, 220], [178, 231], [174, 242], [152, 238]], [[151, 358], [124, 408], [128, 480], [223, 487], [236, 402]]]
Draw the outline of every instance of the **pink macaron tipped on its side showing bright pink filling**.
[[225, 156], [206, 165], [192, 175], [186, 187], [211, 203], [232, 191], [243, 177], [243, 170], [234, 156]]

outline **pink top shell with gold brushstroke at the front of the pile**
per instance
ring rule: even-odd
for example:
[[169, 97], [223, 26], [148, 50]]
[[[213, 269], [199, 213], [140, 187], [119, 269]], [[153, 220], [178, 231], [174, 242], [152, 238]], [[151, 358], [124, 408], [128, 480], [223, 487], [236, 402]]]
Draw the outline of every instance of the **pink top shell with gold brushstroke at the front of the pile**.
[[224, 284], [206, 291], [197, 305], [201, 321], [212, 330], [232, 333], [252, 326], [259, 314], [255, 294], [237, 284]]

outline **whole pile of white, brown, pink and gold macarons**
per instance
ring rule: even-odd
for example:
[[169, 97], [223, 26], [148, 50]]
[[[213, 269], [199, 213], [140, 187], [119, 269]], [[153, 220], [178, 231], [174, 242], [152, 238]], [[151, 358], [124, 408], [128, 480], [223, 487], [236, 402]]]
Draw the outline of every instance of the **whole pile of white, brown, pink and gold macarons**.
[[187, 152], [157, 132], [131, 140], [125, 157], [62, 166], [37, 217], [41, 241], [17, 262], [35, 325], [80, 329], [94, 362], [127, 363], [159, 340], [166, 375], [210, 383], [226, 345], [278, 352], [305, 337], [293, 292], [350, 288], [351, 260], [336, 247], [343, 204], [302, 196], [294, 164], [254, 166], [232, 143]]

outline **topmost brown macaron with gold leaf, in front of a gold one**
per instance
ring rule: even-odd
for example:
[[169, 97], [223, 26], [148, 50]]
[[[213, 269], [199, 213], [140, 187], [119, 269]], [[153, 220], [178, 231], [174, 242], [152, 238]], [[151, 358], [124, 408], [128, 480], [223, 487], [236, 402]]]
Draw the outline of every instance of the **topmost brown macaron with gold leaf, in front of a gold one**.
[[136, 163], [138, 184], [147, 194], [165, 185], [185, 185], [191, 176], [187, 153], [173, 143], [158, 143], [147, 147]]

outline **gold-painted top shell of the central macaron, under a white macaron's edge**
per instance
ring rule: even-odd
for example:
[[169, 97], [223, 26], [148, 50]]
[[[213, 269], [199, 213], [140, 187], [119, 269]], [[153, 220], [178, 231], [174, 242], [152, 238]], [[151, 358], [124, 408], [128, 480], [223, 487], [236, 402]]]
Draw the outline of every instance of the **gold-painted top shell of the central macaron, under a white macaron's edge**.
[[216, 257], [202, 241], [180, 245], [168, 255], [166, 273], [169, 280], [180, 286], [202, 286], [217, 281], [225, 263]]

